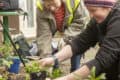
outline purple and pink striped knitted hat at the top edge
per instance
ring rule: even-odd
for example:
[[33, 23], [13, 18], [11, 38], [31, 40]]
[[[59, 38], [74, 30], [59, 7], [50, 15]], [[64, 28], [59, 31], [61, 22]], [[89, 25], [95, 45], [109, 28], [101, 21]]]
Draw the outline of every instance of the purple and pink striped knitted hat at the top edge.
[[84, 0], [84, 3], [90, 6], [113, 7], [116, 0]]

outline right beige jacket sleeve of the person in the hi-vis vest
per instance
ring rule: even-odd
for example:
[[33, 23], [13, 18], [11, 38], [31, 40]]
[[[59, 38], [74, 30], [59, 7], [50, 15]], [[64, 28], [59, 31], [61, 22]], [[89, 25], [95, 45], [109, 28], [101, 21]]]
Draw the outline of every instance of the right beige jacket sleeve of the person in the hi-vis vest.
[[75, 36], [79, 34], [89, 22], [89, 13], [84, 6], [83, 0], [80, 0], [80, 4], [74, 12], [74, 18], [72, 23], [65, 30], [65, 34], [68, 36]]

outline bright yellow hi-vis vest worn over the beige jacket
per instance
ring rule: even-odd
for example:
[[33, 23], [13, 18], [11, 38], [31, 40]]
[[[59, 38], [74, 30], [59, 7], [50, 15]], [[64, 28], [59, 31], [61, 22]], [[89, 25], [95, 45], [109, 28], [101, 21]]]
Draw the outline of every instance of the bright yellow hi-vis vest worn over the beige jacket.
[[[74, 0], [75, 2], [74, 2], [74, 7], [72, 7], [71, 6], [71, 0], [67, 0], [66, 2], [66, 4], [67, 4], [67, 8], [68, 8], [68, 10], [69, 10], [69, 12], [70, 12], [70, 17], [68, 18], [68, 25], [70, 25], [71, 24], [71, 22], [72, 22], [72, 20], [73, 20], [73, 17], [74, 17], [74, 12], [75, 12], [75, 10], [77, 9], [77, 7], [79, 6], [79, 3], [80, 3], [80, 0]], [[42, 6], [42, 4], [40, 3], [40, 0], [37, 0], [37, 7], [41, 10], [41, 11], [43, 11], [43, 6]]]

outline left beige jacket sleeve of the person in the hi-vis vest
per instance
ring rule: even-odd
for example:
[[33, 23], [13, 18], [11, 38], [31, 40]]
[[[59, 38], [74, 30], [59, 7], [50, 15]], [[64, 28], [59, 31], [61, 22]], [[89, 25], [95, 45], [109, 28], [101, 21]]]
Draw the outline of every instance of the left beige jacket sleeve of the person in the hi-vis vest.
[[51, 53], [52, 33], [49, 21], [42, 17], [44, 15], [37, 9], [37, 44], [41, 54]]

